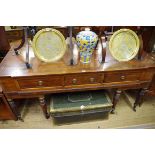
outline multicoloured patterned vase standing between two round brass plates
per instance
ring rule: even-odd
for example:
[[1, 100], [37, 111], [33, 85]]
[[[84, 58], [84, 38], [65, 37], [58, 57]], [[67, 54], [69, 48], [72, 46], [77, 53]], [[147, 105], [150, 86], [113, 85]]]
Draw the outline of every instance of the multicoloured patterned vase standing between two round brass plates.
[[96, 33], [86, 29], [81, 31], [76, 36], [77, 46], [80, 52], [80, 61], [82, 63], [89, 63], [91, 61], [92, 53], [96, 47], [98, 36]]

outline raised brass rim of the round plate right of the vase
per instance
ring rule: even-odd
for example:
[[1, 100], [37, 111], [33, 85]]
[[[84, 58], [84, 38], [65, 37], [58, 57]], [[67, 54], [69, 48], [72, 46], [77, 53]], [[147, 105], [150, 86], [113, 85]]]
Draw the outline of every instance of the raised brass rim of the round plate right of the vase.
[[[121, 58], [119, 58], [118, 56], [116, 56], [116, 55], [115, 55], [115, 51], [114, 51], [113, 48], [112, 48], [112, 43], [113, 43], [114, 38], [115, 38], [119, 33], [122, 33], [122, 32], [129, 32], [129, 33], [131, 33], [131, 34], [135, 37], [136, 44], [137, 44], [135, 50], [133, 51], [133, 54], [132, 54], [130, 57], [124, 58], [124, 59], [121, 59]], [[120, 30], [114, 32], [113, 35], [112, 35], [111, 38], [110, 38], [110, 41], [109, 41], [109, 50], [110, 50], [110, 53], [111, 53], [111, 55], [112, 55], [116, 60], [118, 60], [118, 61], [129, 61], [129, 60], [132, 60], [132, 59], [137, 55], [137, 53], [138, 53], [138, 51], [139, 51], [139, 47], [140, 47], [139, 38], [138, 38], [137, 34], [136, 34], [134, 31], [130, 30], [130, 29], [120, 29]]]

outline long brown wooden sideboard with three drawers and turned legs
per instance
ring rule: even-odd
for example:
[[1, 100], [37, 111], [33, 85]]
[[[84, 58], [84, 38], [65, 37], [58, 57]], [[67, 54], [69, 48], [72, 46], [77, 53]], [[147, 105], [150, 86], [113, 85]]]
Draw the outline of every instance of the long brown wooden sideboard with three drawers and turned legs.
[[[12, 47], [17, 47], [18, 44], [19, 42], [13, 43]], [[44, 63], [34, 56], [30, 47], [31, 69], [27, 69], [24, 64], [24, 47], [18, 56], [10, 50], [0, 64], [0, 82], [3, 93], [18, 119], [22, 120], [14, 99], [38, 98], [45, 117], [49, 118], [44, 97], [46, 94], [97, 89], [115, 90], [112, 112], [122, 90], [140, 89], [134, 104], [135, 110], [149, 88], [155, 62], [149, 54], [142, 60], [135, 58], [128, 62], [118, 62], [113, 59], [107, 48], [105, 63], [100, 63], [99, 47], [101, 46], [99, 45], [94, 52], [91, 63], [82, 64], [78, 58], [77, 47], [74, 45], [76, 65], [73, 66], [68, 65], [69, 52], [66, 52], [64, 58], [58, 62]]]

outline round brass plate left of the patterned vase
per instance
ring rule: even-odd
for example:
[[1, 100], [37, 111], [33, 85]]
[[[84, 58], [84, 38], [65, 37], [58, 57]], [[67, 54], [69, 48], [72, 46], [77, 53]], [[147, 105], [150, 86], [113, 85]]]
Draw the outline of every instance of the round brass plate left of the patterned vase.
[[52, 28], [38, 31], [33, 38], [32, 47], [36, 57], [44, 62], [55, 62], [66, 52], [64, 36]]

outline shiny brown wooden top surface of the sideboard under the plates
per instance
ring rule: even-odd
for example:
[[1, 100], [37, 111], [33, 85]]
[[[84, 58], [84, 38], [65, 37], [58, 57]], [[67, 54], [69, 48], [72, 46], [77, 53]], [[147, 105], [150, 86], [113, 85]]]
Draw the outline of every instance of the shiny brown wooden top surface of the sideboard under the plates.
[[[107, 43], [108, 44], [108, 43]], [[33, 53], [32, 47], [30, 47], [30, 63], [31, 69], [27, 69], [24, 63], [25, 61], [25, 47], [20, 50], [20, 55], [15, 55], [13, 48], [17, 47], [19, 42], [14, 42], [11, 45], [10, 51], [0, 64], [0, 77], [22, 77], [22, 76], [38, 76], [38, 75], [52, 75], [52, 74], [71, 74], [81, 72], [106, 72], [106, 71], [124, 71], [124, 70], [136, 70], [144, 68], [155, 68], [155, 61], [151, 58], [151, 55], [146, 54], [143, 60], [137, 60], [136, 58], [128, 62], [118, 62], [114, 60], [108, 51], [105, 63], [100, 63], [101, 49], [97, 49], [92, 57], [92, 61], [89, 64], [82, 64], [78, 60], [77, 47], [74, 47], [74, 60], [76, 65], [70, 66], [69, 64], [69, 50], [66, 52], [64, 58], [55, 63], [44, 63], [38, 60]]]

